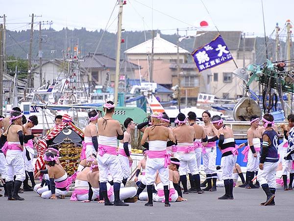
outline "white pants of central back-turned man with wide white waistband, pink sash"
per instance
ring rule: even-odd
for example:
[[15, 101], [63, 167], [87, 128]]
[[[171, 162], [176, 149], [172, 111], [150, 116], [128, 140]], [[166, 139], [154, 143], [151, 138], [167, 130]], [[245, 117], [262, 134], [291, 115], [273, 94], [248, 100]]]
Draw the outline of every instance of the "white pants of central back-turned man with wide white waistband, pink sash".
[[152, 185], [154, 183], [157, 170], [163, 185], [169, 185], [170, 173], [169, 168], [164, 167], [164, 158], [147, 158], [145, 169], [146, 185]]

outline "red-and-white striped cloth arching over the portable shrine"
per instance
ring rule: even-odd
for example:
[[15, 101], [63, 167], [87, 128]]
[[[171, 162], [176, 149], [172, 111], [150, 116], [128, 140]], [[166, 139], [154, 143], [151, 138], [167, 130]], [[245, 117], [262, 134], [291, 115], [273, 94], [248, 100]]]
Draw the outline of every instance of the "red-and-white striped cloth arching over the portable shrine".
[[38, 142], [36, 143], [36, 149], [38, 151], [38, 154], [37, 154], [37, 160], [35, 164], [35, 173], [41, 169], [45, 169], [46, 167], [44, 154], [47, 149], [47, 141], [49, 139], [55, 138], [66, 126], [70, 127], [79, 136], [84, 137], [84, 132], [73, 124], [73, 119], [71, 118], [71, 116], [68, 114], [64, 114], [62, 116], [62, 123], [54, 127], [46, 135], [45, 138], [39, 139]]

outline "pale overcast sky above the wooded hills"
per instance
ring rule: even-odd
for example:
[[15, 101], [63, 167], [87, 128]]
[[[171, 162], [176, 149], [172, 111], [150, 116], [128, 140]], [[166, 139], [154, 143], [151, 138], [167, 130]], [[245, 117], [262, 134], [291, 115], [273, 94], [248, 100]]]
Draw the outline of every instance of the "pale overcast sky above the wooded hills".
[[[203, 5], [203, 2], [208, 10]], [[129, 31], [160, 29], [164, 34], [195, 34], [198, 30], [240, 30], [248, 36], [264, 35], [261, 0], [126, 0], [123, 5], [123, 28]], [[2, 3], [1, 3], [2, 2]], [[117, 0], [0, 0], [0, 14], [7, 16], [9, 30], [30, 28], [35, 21], [52, 21], [51, 28], [104, 29], [116, 32], [119, 6]], [[288, 19], [294, 21], [293, 0], [263, 0], [266, 33], [269, 36], [276, 23], [283, 29]], [[113, 11], [113, 13], [112, 13]], [[112, 16], [111, 16], [112, 13]], [[200, 28], [207, 21], [209, 27]], [[0, 18], [0, 23], [3, 19]], [[49, 28], [44, 25], [42, 28]], [[39, 28], [38, 24], [34, 25]], [[187, 31], [186, 31], [187, 30]]]

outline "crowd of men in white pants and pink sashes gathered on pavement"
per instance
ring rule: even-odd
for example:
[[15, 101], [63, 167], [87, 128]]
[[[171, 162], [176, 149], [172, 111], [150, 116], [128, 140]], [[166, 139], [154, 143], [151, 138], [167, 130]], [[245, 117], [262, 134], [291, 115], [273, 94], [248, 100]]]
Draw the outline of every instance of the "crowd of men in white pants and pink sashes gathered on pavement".
[[[282, 125], [284, 141], [281, 144], [273, 116], [264, 114], [262, 119], [251, 116], [247, 142], [238, 146], [232, 129], [219, 115], [211, 117], [209, 111], [204, 111], [201, 116], [204, 125], [200, 126], [195, 112], [189, 112], [188, 116], [179, 113], [172, 128], [166, 113], [154, 112], [148, 121], [137, 125], [144, 133], [141, 140], [144, 159], [139, 162], [135, 173], [136, 189], [125, 187], [131, 176], [131, 140], [136, 125], [128, 117], [123, 123], [123, 131], [120, 122], [113, 119], [114, 103], [108, 101], [103, 108], [105, 115], [102, 117], [96, 110], [88, 111], [89, 123], [84, 130], [81, 161], [71, 177], [59, 162], [58, 149], [50, 147], [43, 156], [46, 169], [33, 174], [32, 139], [39, 135], [32, 135], [31, 128], [38, 124], [36, 116], [25, 119], [19, 108], [14, 108], [10, 117], [0, 116], [0, 174], [4, 196], [8, 200], [24, 200], [18, 194], [23, 184], [24, 191], [34, 189], [44, 199], [62, 198], [75, 180], [73, 201], [97, 200], [106, 206], [128, 206], [127, 202], [139, 199], [147, 200], [145, 206], [153, 206], [153, 201], [158, 201], [170, 207], [170, 202], [186, 201], [183, 194], [216, 192], [217, 186], [224, 186], [225, 191], [218, 199], [232, 200], [233, 188], [240, 176], [243, 184], [239, 187], [255, 189], [261, 186], [267, 196], [261, 205], [275, 205], [279, 161], [283, 165], [284, 190], [293, 190], [293, 114], [288, 116], [288, 126]], [[259, 126], [260, 120], [263, 126]], [[56, 116], [56, 125], [61, 122], [62, 116]], [[242, 147], [245, 147], [242, 154], [247, 162], [246, 180], [236, 164], [238, 149]], [[217, 148], [221, 151], [221, 166], [216, 166]], [[201, 160], [206, 175], [202, 184]], [[34, 177], [42, 177], [42, 182], [36, 185]], [[29, 186], [28, 179], [32, 186]], [[144, 192], [145, 188], [147, 192]]]

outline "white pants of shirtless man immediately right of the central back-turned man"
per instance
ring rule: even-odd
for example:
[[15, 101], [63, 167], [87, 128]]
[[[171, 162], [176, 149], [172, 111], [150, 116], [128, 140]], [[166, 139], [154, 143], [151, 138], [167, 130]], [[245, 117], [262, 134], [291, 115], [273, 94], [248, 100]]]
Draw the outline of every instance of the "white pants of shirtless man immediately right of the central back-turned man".
[[[189, 171], [192, 175], [198, 174], [198, 166], [196, 162], [195, 152], [190, 153], [178, 153], [177, 159], [180, 161], [179, 173], [181, 175], [186, 175]], [[189, 167], [189, 171], [187, 168]]]

